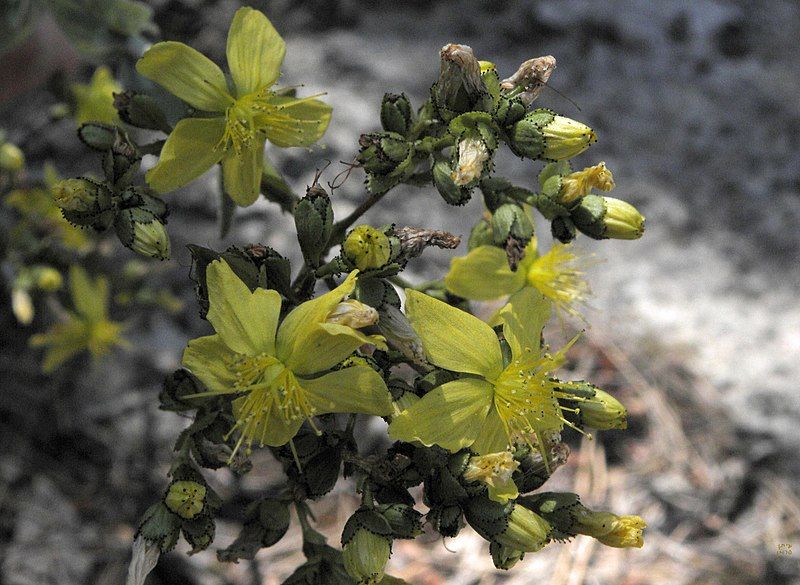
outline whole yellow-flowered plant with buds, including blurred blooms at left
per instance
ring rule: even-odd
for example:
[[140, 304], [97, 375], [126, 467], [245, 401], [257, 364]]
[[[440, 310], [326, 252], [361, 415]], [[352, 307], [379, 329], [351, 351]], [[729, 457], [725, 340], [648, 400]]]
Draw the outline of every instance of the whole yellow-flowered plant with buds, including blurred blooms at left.
[[[203, 470], [247, 473], [260, 448], [281, 463], [285, 489], [252, 502], [241, 534], [218, 555], [253, 558], [286, 534], [293, 508], [307, 561], [285, 583], [401, 582], [386, 565], [394, 540], [422, 532], [420, 493], [432, 530], [453, 537], [468, 524], [502, 569], [579, 534], [641, 547], [638, 516], [539, 491], [566, 462], [562, 433], [627, 426], [614, 396], [563, 379], [580, 334], [558, 349], [545, 343], [553, 315], [566, 329], [584, 318], [590, 296], [593, 260], [572, 242], [636, 239], [644, 230], [631, 204], [598, 194], [615, 187], [604, 162], [570, 165], [596, 132], [533, 106], [555, 58], [525, 61], [501, 81], [470, 47], [443, 47], [439, 76], [418, 108], [405, 94], [384, 96], [381, 129], [361, 135], [353, 164], [365, 173], [366, 199], [336, 218], [319, 176], [299, 197], [265, 158], [267, 145], [314, 144], [331, 118], [319, 95], [276, 87], [285, 51], [272, 23], [251, 8], [231, 23], [227, 72], [183, 43], [153, 44], [136, 70], [185, 103], [177, 120], [156, 97], [123, 91], [107, 68], [72, 87], [79, 136], [101, 153], [103, 176], [51, 181], [50, 212], [58, 208], [73, 226], [113, 228], [131, 250], [167, 259], [160, 195], [219, 165], [223, 232], [237, 206], [263, 195], [292, 214], [302, 257], [293, 270], [287, 256], [261, 244], [189, 246], [201, 316], [213, 333], [189, 341], [182, 367], [165, 380], [161, 407], [193, 413], [193, 422], [178, 438], [170, 483], [145, 513], [135, 550], [165, 552], [181, 535], [193, 551], [209, 547], [222, 502]], [[165, 137], [142, 143], [142, 129]], [[518, 186], [498, 176], [502, 148], [531, 167], [543, 161], [538, 180], [531, 172], [530, 184]], [[137, 181], [148, 154], [158, 161]], [[17, 173], [21, 157], [1, 145], [0, 169]], [[459, 237], [359, 223], [401, 184], [427, 187], [453, 206], [482, 197], [485, 213], [466, 255], [439, 280], [414, 285], [404, 271], [430, 247], [458, 247]], [[537, 238], [534, 212], [549, 222], [549, 249], [541, 249], [548, 238]], [[45, 266], [26, 275], [21, 291], [61, 286], [60, 273]], [[108, 281], [79, 267], [69, 281], [74, 310], [32, 338], [47, 348], [46, 371], [83, 350], [100, 356], [125, 343], [122, 324], [109, 317]], [[327, 292], [318, 292], [323, 286]], [[15, 310], [25, 320], [30, 311], [20, 299]], [[472, 304], [484, 301], [494, 310]], [[486, 321], [476, 316], [484, 312]], [[359, 451], [356, 423], [366, 416], [388, 425], [388, 449]], [[307, 500], [324, 496], [342, 474], [357, 476], [361, 504], [339, 550], [312, 527]]]

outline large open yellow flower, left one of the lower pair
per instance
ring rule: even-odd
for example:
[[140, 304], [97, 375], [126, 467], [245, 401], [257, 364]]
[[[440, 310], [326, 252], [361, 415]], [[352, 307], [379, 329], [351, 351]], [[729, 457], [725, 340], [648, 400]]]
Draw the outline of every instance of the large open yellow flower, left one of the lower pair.
[[302, 303], [278, 325], [281, 297], [274, 290], [250, 292], [227, 263], [206, 272], [208, 320], [215, 335], [189, 342], [183, 365], [208, 387], [204, 395], [240, 394], [233, 401], [238, 450], [288, 442], [300, 425], [329, 412], [387, 416], [391, 396], [372, 368], [354, 365], [329, 372], [365, 343], [384, 347], [337, 323], [338, 307], [356, 285], [352, 272], [334, 290]]

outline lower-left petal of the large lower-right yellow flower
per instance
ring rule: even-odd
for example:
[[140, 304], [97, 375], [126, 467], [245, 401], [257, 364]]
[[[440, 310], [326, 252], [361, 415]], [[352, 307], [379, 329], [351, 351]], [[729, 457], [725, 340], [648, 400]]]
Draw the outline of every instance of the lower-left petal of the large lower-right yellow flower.
[[492, 406], [492, 395], [492, 385], [475, 378], [442, 384], [394, 417], [389, 436], [439, 445], [455, 453], [475, 441]]

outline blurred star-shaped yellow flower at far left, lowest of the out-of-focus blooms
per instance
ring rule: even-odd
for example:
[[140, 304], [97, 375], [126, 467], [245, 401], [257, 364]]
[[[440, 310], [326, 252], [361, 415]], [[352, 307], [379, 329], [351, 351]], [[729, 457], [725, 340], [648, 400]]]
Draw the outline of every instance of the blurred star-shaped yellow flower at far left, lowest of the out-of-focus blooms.
[[108, 319], [108, 280], [92, 282], [86, 271], [73, 265], [69, 271], [70, 296], [74, 312], [46, 333], [33, 335], [33, 347], [47, 347], [42, 369], [50, 373], [72, 356], [88, 351], [93, 358], [106, 355], [115, 345], [126, 346], [122, 323]]

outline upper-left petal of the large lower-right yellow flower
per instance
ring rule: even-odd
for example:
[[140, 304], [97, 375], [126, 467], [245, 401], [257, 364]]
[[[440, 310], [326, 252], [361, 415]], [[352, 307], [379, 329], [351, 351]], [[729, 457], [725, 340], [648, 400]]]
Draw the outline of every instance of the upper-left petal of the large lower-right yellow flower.
[[432, 364], [490, 380], [500, 375], [500, 343], [492, 328], [477, 317], [410, 289], [406, 289], [406, 315]]

